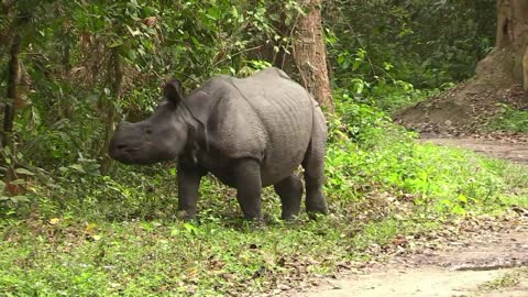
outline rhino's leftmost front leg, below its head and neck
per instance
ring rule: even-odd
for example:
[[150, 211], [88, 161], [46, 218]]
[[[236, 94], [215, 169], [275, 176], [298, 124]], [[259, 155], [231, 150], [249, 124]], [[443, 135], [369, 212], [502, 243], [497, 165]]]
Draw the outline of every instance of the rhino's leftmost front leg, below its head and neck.
[[207, 172], [191, 165], [185, 160], [178, 162], [178, 217], [184, 220], [196, 218], [196, 204], [198, 202], [198, 188], [200, 180]]

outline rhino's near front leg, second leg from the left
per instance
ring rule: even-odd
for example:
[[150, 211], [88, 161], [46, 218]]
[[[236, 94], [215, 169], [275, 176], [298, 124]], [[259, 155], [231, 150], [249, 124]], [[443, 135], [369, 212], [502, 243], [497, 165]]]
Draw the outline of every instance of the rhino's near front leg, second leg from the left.
[[261, 212], [261, 165], [252, 158], [239, 160], [234, 167], [237, 200], [248, 220], [262, 220]]

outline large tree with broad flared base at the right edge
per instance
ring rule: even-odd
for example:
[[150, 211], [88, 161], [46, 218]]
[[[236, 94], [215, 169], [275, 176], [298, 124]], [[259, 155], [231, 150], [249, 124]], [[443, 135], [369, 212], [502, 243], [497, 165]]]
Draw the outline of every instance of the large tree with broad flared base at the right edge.
[[498, 102], [528, 107], [526, 0], [497, 0], [496, 44], [479, 62], [473, 78], [404, 110], [397, 118], [422, 131], [471, 131], [493, 117]]

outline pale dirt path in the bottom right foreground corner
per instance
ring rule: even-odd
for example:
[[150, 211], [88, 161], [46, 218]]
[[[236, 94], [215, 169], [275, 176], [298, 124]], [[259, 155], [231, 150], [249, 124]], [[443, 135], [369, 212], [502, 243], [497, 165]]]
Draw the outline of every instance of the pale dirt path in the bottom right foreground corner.
[[391, 258], [297, 297], [526, 297], [528, 215], [509, 230]]

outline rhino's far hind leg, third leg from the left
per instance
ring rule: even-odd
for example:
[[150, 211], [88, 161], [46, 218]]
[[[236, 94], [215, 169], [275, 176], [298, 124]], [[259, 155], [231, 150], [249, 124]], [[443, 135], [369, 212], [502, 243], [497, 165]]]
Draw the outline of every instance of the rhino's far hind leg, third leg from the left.
[[283, 220], [290, 220], [299, 215], [300, 199], [302, 197], [302, 183], [293, 174], [274, 185], [275, 191], [280, 197]]

